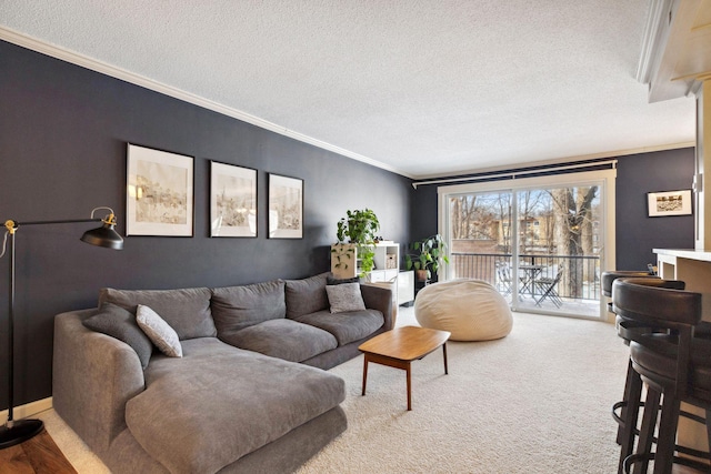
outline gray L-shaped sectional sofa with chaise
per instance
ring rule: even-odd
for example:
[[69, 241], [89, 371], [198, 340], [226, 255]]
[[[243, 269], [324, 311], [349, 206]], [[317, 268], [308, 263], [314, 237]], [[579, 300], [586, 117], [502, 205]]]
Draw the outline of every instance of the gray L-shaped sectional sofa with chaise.
[[[344, 381], [324, 369], [392, 327], [390, 290], [360, 285], [365, 309], [333, 314], [329, 278], [104, 289], [98, 310], [56, 317], [54, 409], [116, 473], [292, 472], [347, 427]], [[118, 334], [87, 327], [138, 305], [182, 357], [142, 354], [131, 316]]]

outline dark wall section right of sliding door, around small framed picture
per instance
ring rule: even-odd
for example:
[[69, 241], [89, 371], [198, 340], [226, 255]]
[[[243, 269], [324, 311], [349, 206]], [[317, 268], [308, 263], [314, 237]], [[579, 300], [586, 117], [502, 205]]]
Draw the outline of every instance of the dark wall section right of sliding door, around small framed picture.
[[693, 215], [649, 218], [647, 193], [690, 190], [694, 149], [640, 153], [618, 159], [617, 268], [657, 264], [652, 249], [693, 249]]

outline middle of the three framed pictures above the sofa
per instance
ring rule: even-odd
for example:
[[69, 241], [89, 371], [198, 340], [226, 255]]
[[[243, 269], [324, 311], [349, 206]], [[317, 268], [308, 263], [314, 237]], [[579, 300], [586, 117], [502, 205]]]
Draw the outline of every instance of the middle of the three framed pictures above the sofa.
[[210, 236], [257, 236], [257, 170], [210, 162]]

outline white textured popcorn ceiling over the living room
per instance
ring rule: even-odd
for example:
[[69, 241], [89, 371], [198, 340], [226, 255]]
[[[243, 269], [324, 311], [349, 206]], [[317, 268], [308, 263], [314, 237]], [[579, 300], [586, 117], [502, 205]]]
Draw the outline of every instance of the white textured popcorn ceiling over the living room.
[[649, 0], [0, 0], [0, 39], [429, 178], [692, 143], [694, 100], [650, 104], [634, 79], [648, 9]]

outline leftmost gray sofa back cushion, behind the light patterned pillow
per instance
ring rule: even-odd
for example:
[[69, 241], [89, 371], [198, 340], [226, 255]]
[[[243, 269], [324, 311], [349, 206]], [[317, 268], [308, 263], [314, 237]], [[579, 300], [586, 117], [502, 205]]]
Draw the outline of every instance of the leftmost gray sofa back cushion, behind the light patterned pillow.
[[99, 292], [99, 305], [104, 302], [126, 307], [136, 314], [142, 304], [160, 314], [178, 333], [180, 340], [214, 337], [217, 330], [210, 312], [210, 290], [190, 288], [179, 290], [114, 290]]

